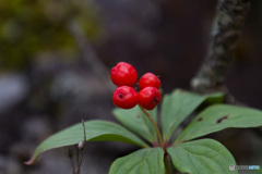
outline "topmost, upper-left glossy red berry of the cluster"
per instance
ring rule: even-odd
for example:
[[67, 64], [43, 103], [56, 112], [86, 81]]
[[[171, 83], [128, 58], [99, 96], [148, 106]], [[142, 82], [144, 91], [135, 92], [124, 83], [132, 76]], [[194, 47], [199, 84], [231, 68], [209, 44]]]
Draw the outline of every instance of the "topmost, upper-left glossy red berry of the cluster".
[[138, 72], [129, 63], [119, 62], [110, 71], [111, 80], [117, 86], [132, 86], [138, 82]]

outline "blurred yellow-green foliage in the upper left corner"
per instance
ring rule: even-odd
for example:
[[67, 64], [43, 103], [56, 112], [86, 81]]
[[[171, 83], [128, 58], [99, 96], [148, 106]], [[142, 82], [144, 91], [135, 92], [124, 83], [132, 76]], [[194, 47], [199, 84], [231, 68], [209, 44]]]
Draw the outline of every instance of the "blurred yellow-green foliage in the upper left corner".
[[90, 39], [102, 33], [91, 0], [0, 1], [0, 71], [25, 70], [40, 52], [76, 52], [67, 25], [76, 21]]

